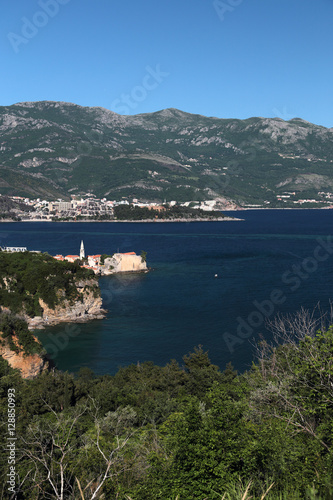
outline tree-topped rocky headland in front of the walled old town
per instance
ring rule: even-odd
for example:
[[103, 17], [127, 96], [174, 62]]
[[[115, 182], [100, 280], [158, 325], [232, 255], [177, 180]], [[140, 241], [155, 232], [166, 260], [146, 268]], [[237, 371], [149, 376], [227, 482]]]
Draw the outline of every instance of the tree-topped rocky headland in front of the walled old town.
[[93, 270], [28, 251], [0, 252], [0, 304], [30, 328], [101, 319], [106, 312]]

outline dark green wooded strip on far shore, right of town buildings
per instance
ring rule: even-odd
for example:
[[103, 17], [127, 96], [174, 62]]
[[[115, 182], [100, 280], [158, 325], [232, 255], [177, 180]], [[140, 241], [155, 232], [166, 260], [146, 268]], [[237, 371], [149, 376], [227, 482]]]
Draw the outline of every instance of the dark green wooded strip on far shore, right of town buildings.
[[166, 207], [165, 210], [150, 210], [147, 207], [134, 205], [118, 205], [114, 208], [114, 217], [117, 220], [154, 220], [154, 219], [218, 219], [224, 217], [221, 212], [206, 211], [189, 207]]

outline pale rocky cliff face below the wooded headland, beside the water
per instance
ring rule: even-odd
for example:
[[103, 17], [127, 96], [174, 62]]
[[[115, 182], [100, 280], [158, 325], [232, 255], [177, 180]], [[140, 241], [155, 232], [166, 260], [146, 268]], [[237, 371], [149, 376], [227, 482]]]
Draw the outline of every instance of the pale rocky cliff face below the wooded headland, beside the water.
[[81, 296], [74, 302], [64, 299], [54, 308], [50, 308], [42, 299], [39, 299], [43, 314], [34, 318], [26, 318], [29, 328], [44, 328], [63, 322], [84, 323], [91, 319], [104, 318], [106, 311], [102, 309], [102, 298], [92, 288], [94, 284], [94, 280], [79, 282], [76, 286]]

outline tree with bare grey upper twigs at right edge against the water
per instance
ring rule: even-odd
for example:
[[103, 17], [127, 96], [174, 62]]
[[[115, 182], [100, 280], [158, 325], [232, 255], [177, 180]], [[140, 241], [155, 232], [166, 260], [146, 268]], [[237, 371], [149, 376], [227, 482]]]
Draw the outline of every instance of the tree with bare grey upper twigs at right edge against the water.
[[271, 418], [311, 437], [331, 467], [333, 326], [324, 320], [301, 309], [271, 322], [274, 341], [258, 346], [259, 366], [248, 377], [254, 386], [249, 405], [261, 421]]

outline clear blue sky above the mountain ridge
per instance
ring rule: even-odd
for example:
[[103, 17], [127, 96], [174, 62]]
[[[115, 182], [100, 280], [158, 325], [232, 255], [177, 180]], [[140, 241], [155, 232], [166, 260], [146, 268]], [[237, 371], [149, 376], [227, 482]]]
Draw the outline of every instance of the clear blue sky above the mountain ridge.
[[333, 0], [15, 0], [0, 105], [301, 117], [333, 127]]

